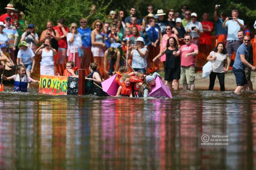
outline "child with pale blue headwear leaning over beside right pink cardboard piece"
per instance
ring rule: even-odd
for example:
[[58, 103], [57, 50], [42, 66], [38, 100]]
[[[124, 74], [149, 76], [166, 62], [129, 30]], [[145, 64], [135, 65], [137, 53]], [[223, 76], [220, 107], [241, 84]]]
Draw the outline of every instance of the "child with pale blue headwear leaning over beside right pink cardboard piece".
[[148, 94], [151, 92], [151, 88], [156, 84], [155, 78], [157, 76], [160, 77], [157, 72], [154, 72], [152, 76], [148, 75], [145, 77], [143, 84], [140, 86], [140, 90], [138, 93], [139, 97], [148, 97]]

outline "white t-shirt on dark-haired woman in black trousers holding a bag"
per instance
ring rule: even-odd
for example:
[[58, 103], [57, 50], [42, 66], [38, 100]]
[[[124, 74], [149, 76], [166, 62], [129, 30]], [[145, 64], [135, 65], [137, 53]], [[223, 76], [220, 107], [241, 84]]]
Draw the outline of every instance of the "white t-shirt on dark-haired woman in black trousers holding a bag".
[[226, 54], [220, 54], [217, 52], [210, 52], [210, 55], [216, 56], [217, 58], [212, 61], [212, 71], [215, 73], [223, 73], [224, 72], [224, 59], [227, 59]]

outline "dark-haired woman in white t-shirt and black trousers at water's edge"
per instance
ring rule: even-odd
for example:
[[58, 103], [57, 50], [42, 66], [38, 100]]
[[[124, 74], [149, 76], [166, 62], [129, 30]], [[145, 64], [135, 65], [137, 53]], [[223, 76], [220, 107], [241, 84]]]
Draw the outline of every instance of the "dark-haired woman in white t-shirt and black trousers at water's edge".
[[213, 90], [216, 76], [220, 82], [221, 91], [225, 90], [225, 72], [227, 70], [227, 50], [223, 42], [219, 42], [207, 57], [207, 61], [212, 62], [212, 72], [210, 74], [209, 90]]

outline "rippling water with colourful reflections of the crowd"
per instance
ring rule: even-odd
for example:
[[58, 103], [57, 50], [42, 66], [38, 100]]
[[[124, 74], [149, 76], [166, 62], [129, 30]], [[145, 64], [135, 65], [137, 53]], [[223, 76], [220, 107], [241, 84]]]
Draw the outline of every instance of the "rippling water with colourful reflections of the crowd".
[[[12, 88], [0, 94], [0, 169], [256, 169], [252, 92], [121, 99]], [[198, 148], [198, 133], [224, 133], [228, 146]]]

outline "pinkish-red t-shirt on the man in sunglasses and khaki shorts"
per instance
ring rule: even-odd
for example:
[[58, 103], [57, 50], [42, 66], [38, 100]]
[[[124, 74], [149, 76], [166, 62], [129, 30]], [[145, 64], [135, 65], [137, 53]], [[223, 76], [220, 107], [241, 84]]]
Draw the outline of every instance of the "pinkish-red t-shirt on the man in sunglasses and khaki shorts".
[[194, 67], [195, 66], [195, 56], [188, 56], [184, 57], [185, 54], [192, 53], [195, 50], [198, 50], [198, 46], [195, 44], [190, 44], [190, 45], [182, 45], [179, 49], [181, 52], [180, 56], [180, 65], [185, 66], [185, 67]]

